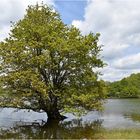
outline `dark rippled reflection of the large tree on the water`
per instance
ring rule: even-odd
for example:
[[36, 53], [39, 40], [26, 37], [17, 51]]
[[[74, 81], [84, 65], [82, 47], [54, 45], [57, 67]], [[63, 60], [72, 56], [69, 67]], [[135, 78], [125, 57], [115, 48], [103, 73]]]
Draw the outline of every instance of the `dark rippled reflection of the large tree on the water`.
[[16, 125], [8, 130], [0, 131], [0, 138], [24, 139], [65, 139], [65, 138], [94, 138], [94, 134], [101, 129], [101, 120], [83, 123], [74, 119], [69, 122], [47, 122], [46, 124]]

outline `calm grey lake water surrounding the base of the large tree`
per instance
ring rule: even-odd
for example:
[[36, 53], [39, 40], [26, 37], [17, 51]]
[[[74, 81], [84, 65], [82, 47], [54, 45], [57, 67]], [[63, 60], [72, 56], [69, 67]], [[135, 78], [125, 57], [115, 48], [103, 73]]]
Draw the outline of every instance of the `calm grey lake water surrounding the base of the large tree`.
[[103, 112], [66, 116], [59, 124], [46, 124], [45, 113], [0, 109], [0, 138], [90, 138], [102, 129], [140, 129], [140, 99], [109, 99]]

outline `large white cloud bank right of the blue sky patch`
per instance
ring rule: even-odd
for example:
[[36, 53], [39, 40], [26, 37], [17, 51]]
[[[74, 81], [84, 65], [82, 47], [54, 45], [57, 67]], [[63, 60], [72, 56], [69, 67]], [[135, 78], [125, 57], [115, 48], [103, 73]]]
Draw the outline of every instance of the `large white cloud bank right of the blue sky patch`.
[[101, 33], [100, 43], [104, 45], [102, 55], [109, 64], [103, 71], [104, 79], [120, 79], [136, 68], [140, 72], [139, 7], [139, 0], [89, 0], [84, 20], [72, 22], [83, 34], [90, 31]]

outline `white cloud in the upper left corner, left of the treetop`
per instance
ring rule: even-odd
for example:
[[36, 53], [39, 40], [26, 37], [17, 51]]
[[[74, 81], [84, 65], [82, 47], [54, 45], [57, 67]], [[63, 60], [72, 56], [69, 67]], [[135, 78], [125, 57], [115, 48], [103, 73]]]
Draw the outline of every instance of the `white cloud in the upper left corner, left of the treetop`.
[[36, 3], [54, 5], [53, 0], [3, 0], [0, 3], [0, 40], [7, 37], [10, 31], [10, 21], [17, 21], [23, 17], [28, 5]]

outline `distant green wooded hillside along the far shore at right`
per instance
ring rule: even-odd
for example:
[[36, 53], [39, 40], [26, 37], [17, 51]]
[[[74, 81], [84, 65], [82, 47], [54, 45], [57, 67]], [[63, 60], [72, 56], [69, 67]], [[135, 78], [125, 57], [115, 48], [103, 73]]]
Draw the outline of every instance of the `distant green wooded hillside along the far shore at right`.
[[140, 97], [140, 73], [131, 74], [116, 82], [107, 82], [108, 97], [138, 98]]

